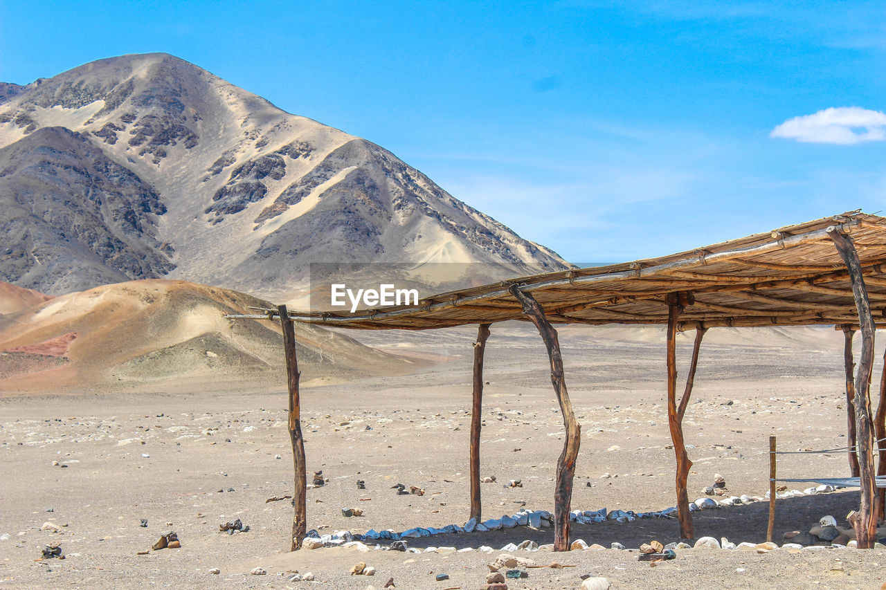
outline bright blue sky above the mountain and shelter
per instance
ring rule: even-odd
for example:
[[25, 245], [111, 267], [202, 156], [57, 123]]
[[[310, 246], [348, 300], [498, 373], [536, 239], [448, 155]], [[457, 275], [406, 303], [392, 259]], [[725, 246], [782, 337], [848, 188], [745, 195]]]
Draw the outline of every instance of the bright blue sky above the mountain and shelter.
[[0, 0], [0, 30], [0, 81], [166, 51], [567, 260], [886, 209], [879, 2]]

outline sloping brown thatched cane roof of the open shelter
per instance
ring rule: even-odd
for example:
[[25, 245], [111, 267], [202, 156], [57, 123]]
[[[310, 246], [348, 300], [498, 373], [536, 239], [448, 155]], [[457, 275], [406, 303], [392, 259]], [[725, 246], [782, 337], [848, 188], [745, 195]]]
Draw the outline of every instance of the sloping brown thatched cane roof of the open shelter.
[[[838, 229], [859, 252], [874, 321], [886, 316], [886, 218], [850, 212], [693, 251], [606, 267], [517, 277], [441, 293], [417, 306], [354, 314], [290, 312], [293, 320], [362, 330], [427, 330], [523, 320], [512, 284], [532, 293], [555, 323], [667, 323], [665, 298], [690, 292], [680, 329], [858, 322]], [[881, 266], [883, 265], [883, 266]]]

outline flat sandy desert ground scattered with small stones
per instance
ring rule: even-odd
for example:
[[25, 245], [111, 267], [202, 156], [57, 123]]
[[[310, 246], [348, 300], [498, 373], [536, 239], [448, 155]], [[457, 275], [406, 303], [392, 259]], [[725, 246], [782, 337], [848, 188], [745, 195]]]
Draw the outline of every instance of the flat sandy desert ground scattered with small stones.
[[[299, 330], [299, 326], [296, 326]], [[322, 384], [323, 362], [301, 392], [308, 477], [329, 482], [308, 490], [308, 528], [321, 534], [464, 524], [469, 516], [471, 328], [423, 333], [356, 334], [363, 344], [422, 358], [417, 372], [336, 379]], [[692, 334], [680, 336], [685, 375]], [[711, 330], [702, 348], [684, 430], [690, 500], [703, 497], [715, 474], [734, 495], [768, 489], [768, 437], [783, 450], [846, 446], [842, 334], [832, 328]], [[658, 328], [560, 330], [566, 383], [581, 423], [573, 509], [637, 512], [674, 503], [674, 457], [664, 407], [664, 334]], [[878, 347], [882, 358], [882, 346]], [[378, 359], [385, 358], [377, 355]], [[879, 379], [877, 362], [874, 382]], [[520, 508], [553, 510], [563, 423], [550, 385], [548, 359], [525, 324], [493, 327], [486, 345], [481, 439], [484, 518]], [[279, 380], [199, 375], [126, 387], [4, 392], [0, 400], [0, 587], [112, 588], [480, 588], [486, 563], [509, 542], [550, 543], [551, 529], [408, 540], [420, 554], [323, 547], [287, 551], [292, 508], [268, 501], [292, 491], [284, 374]], [[874, 387], [874, 400], [876, 388]], [[783, 477], [847, 475], [846, 455], [782, 455]], [[356, 486], [366, 483], [365, 490]], [[522, 487], [505, 487], [519, 479]], [[397, 495], [416, 485], [423, 496]], [[795, 484], [804, 489], [813, 484]], [[845, 516], [858, 491], [777, 502], [775, 540], [806, 531], [821, 516]], [[342, 508], [361, 508], [346, 517]], [[696, 538], [760, 542], [766, 502], [694, 513]], [[141, 519], [147, 526], [141, 526]], [[249, 532], [219, 525], [240, 518]], [[42, 530], [53, 523], [58, 531]], [[46, 527], [52, 529], [55, 527]], [[173, 530], [180, 548], [151, 551]], [[662, 563], [638, 561], [650, 540], [679, 540], [675, 519], [573, 524], [571, 537], [628, 549], [568, 553], [516, 551], [537, 565], [508, 587], [579, 588], [581, 575], [612, 588], [880, 588], [886, 553], [815, 547], [755, 550], [678, 549]], [[64, 560], [41, 559], [60, 543]], [[427, 547], [493, 547], [492, 553], [424, 552]], [[144, 553], [147, 552], [147, 553]], [[144, 555], [139, 555], [144, 553]], [[374, 577], [352, 576], [356, 563]], [[254, 568], [266, 575], [251, 575]], [[219, 574], [212, 574], [214, 568]], [[288, 581], [294, 572], [314, 581]], [[439, 573], [448, 574], [436, 581]]]

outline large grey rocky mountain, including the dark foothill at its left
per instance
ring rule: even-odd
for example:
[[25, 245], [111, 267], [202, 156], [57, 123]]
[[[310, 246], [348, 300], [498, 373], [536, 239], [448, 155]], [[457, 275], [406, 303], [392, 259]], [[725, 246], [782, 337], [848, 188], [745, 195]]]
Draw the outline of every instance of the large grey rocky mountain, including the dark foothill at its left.
[[0, 279], [52, 294], [167, 277], [287, 300], [311, 262], [568, 266], [390, 151], [167, 54], [0, 88], [0, 146]]

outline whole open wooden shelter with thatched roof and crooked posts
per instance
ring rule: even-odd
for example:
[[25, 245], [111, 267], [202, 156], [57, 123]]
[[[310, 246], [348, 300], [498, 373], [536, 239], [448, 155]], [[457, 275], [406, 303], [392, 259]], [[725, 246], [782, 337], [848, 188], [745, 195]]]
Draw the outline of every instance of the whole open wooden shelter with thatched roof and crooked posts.
[[[296, 480], [292, 549], [305, 534], [305, 464], [299, 425], [299, 384], [292, 322], [314, 322], [356, 330], [431, 330], [478, 324], [474, 348], [470, 429], [470, 516], [480, 516], [479, 434], [486, 338], [495, 322], [524, 320], [539, 330], [548, 349], [551, 381], [566, 430], [556, 468], [555, 539], [557, 551], [569, 548], [572, 477], [579, 454], [580, 428], [572, 412], [554, 324], [665, 324], [667, 326], [667, 409], [676, 455], [675, 488], [680, 534], [694, 537], [689, 513], [689, 461], [682, 419], [688, 406], [698, 354], [706, 330], [718, 326], [791, 326], [835, 324], [846, 334], [846, 395], [849, 431], [857, 443], [850, 453], [858, 466], [861, 501], [856, 528], [859, 547], [872, 547], [882, 508], [874, 505], [874, 422], [876, 438], [886, 437], [886, 404], [881, 392], [876, 420], [870, 408], [874, 330], [886, 325], [886, 218], [858, 211], [809, 221], [771, 232], [655, 259], [596, 268], [579, 268], [452, 291], [417, 305], [358, 310], [354, 314], [290, 312], [281, 306], [237, 318], [279, 317], [284, 327], [290, 386], [290, 432]], [[696, 330], [688, 377], [677, 396], [675, 336]], [[854, 371], [852, 332], [860, 330], [861, 353]], [[886, 384], [886, 376], [883, 377]], [[886, 473], [886, 452], [879, 472]], [[882, 505], [881, 505], [882, 506]], [[879, 515], [878, 515], [879, 513]]]

